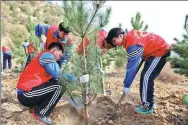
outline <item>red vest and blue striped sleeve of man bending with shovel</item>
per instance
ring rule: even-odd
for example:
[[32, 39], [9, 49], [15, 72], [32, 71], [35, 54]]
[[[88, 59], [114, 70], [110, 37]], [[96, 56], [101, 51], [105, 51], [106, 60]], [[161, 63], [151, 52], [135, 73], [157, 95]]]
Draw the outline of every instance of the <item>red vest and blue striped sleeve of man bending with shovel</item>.
[[170, 48], [160, 36], [138, 30], [131, 30], [124, 35], [123, 47], [127, 51], [128, 58], [124, 79], [126, 88], [131, 86], [141, 58], [147, 60], [151, 56], [164, 56]]

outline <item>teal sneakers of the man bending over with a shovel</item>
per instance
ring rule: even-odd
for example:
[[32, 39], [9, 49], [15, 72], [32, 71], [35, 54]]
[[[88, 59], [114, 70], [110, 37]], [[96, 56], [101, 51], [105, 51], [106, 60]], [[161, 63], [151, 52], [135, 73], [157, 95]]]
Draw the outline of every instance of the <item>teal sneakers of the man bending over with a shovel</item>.
[[154, 105], [151, 108], [141, 105], [140, 107], [135, 108], [135, 111], [140, 114], [152, 114], [154, 111]]

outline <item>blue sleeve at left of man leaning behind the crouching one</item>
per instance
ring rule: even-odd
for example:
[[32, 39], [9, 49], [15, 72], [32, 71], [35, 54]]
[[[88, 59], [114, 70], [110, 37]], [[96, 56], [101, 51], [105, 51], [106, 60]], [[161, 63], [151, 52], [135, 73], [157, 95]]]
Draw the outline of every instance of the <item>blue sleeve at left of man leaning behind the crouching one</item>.
[[37, 37], [41, 37], [41, 35], [45, 35], [47, 34], [48, 32], [48, 28], [49, 28], [50, 25], [48, 24], [45, 24], [45, 25], [42, 25], [42, 24], [37, 24], [35, 26], [35, 35]]

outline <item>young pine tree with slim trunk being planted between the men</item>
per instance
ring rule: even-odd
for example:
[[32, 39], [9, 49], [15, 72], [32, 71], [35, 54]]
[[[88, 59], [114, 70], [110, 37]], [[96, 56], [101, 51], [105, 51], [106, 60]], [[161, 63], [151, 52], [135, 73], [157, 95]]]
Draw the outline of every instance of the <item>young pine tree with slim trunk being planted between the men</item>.
[[[89, 38], [90, 44], [88, 46], [88, 52], [85, 52], [85, 46], [83, 45], [83, 55], [78, 55], [77, 51], [73, 50], [73, 55], [70, 60], [69, 67], [65, 68], [65, 72], [73, 72], [76, 76], [81, 76], [83, 73], [90, 75], [89, 83], [84, 85], [70, 85], [67, 88], [71, 91], [80, 91], [80, 94], [85, 105], [86, 124], [89, 124], [88, 120], [88, 102], [92, 93], [101, 92], [100, 89], [102, 82], [98, 81], [101, 77], [101, 72], [97, 69], [97, 62], [101, 56], [101, 50], [97, 49], [95, 45], [96, 33], [101, 26], [105, 26], [108, 23], [111, 8], [103, 9], [105, 1], [64, 1], [64, 23], [69, 26], [71, 32], [78, 36], [76, 42], [83, 42], [85, 37]], [[102, 23], [98, 23], [102, 21]], [[87, 55], [86, 55], [87, 54]], [[84, 64], [84, 65], [83, 65]], [[72, 65], [70, 67], [70, 65]], [[98, 78], [97, 78], [98, 77]], [[63, 81], [63, 83], [66, 81]], [[78, 95], [79, 96], [79, 95]]]

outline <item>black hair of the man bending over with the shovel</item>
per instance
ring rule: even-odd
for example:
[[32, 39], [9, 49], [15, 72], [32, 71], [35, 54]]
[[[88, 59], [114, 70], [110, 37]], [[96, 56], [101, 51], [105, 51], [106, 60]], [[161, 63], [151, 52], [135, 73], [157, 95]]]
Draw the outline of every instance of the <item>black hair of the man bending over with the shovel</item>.
[[108, 36], [106, 37], [107, 43], [111, 44], [112, 47], [115, 47], [116, 45], [114, 45], [114, 44], [112, 43], [112, 39], [113, 39], [114, 37], [118, 37], [119, 34], [124, 34], [124, 33], [125, 33], [125, 32], [124, 32], [121, 28], [119, 28], [119, 27], [117, 27], [117, 28], [112, 28], [112, 29], [109, 31]]

